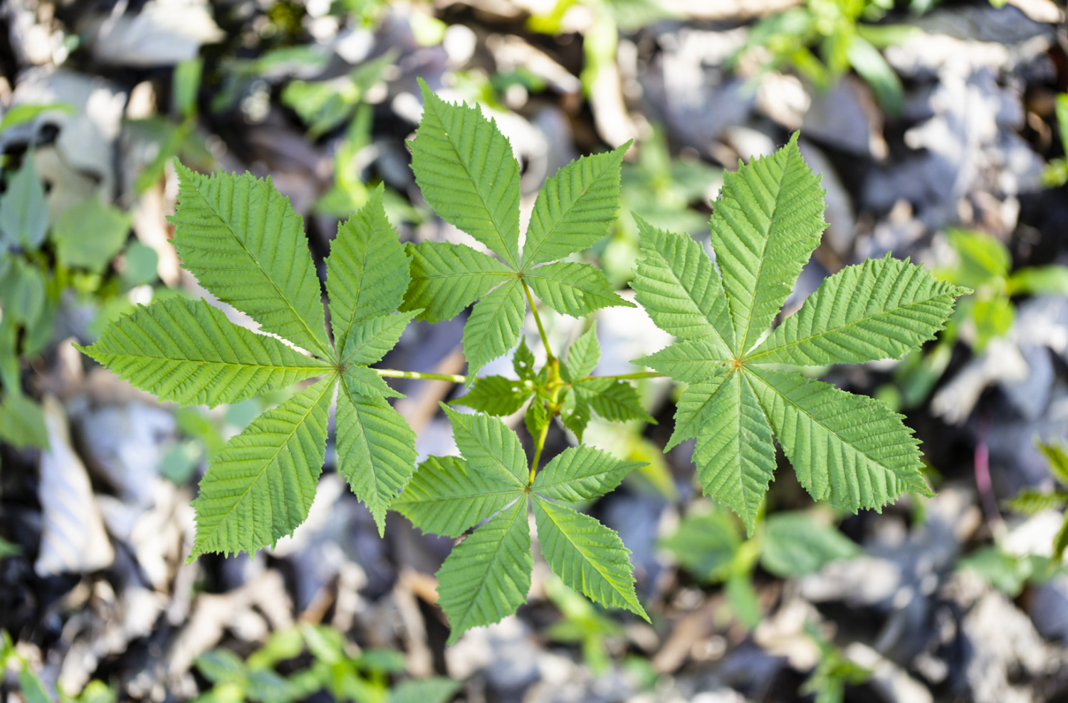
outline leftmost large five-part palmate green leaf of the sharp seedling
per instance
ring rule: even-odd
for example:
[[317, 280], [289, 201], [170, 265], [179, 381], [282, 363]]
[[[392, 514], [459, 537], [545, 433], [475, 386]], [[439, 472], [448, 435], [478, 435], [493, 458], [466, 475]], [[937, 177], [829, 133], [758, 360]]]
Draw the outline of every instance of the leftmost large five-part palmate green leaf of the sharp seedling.
[[[339, 228], [331, 246], [327, 290], [334, 298], [331, 324], [339, 345], [331, 347], [318, 279], [307, 249], [298, 246], [299, 218], [284, 199], [269, 182], [251, 176], [182, 173], [185, 190], [175, 222], [186, 265], [223, 299], [244, 300], [264, 329], [296, 331], [290, 341], [324, 358], [233, 325], [202, 300], [180, 298], [139, 308], [84, 352], [138, 387], [183, 404], [234, 403], [327, 376], [254, 420], [213, 459], [195, 502], [193, 557], [251, 553], [303, 520], [321, 470], [335, 381], [339, 469], [381, 529], [415, 460], [414, 433], [383, 400], [399, 394], [366, 365], [382, 358], [412, 317], [390, 314], [403, 299], [408, 257], [386, 220], [381, 193]], [[268, 251], [271, 247], [277, 251]], [[242, 298], [251, 294], [240, 292], [241, 285], [264, 298]]]

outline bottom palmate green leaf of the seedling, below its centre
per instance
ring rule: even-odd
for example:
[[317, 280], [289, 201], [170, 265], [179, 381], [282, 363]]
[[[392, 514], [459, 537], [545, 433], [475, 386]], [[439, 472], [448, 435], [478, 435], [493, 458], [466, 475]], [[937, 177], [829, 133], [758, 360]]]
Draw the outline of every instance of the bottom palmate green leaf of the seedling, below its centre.
[[[438, 572], [439, 603], [452, 626], [449, 642], [512, 614], [527, 599], [533, 568], [528, 521], [532, 498], [543, 548], [547, 540], [551, 545], [545, 553], [553, 571], [598, 603], [644, 618], [629, 552], [618, 535], [551, 500], [601, 496], [641, 464], [576, 448], [555, 457], [531, 483], [519, 438], [503, 422], [442, 408], [464, 458], [428, 458], [394, 507], [420, 529], [450, 536], [488, 520], [453, 549]], [[543, 519], [548, 520], [544, 528]]]

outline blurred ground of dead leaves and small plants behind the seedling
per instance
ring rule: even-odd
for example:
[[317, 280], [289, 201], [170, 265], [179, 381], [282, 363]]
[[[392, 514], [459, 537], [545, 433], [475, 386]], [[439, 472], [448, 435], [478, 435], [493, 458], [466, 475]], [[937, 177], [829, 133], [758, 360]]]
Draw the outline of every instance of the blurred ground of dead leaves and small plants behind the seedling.
[[[4, 0], [2, 17], [3, 696], [1068, 694], [1056, 663], [1068, 660], [1062, 5]], [[586, 510], [631, 549], [651, 627], [536, 576], [518, 618], [444, 650], [429, 575], [447, 545], [396, 516], [379, 540], [333, 481], [332, 444], [297, 535], [251, 563], [184, 564], [207, 459], [287, 392], [213, 410], [159, 406], [69, 343], [159, 296], [203, 295], [169, 241], [174, 158], [272, 177], [304, 216], [319, 265], [337, 221], [380, 184], [404, 239], [462, 236], [434, 217], [408, 170], [417, 77], [498, 122], [523, 167], [527, 209], [569, 159], [634, 140], [621, 217], [583, 254], [624, 295], [639, 256], [631, 213], [707, 244], [724, 169], [801, 129], [829, 230], [788, 312], [827, 275], [886, 251], [974, 291], [899, 363], [810, 370], [906, 413], [939, 497], [845, 515], [813, 506], [781, 472], [745, 540], [695, 494], [692, 444], [662, 453], [679, 391], [647, 379], [639, 388], [656, 424], [593, 424], [584, 439], [648, 463]], [[639, 371], [629, 360], [666, 343], [629, 314], [598, 319], [598, 373]], [[582, 331], [560, 315], [546, 324], [553, 344]], [[460, 373], [458, 341], [458, 323], [413, 325], [386, 364]], [[459, 390], [402, 390], [420, 451], [449, 453], [437, 401]], [[520, 433], [521, 417], [511, 418]], [[574, 439], [554, 427], [550, 447]]]

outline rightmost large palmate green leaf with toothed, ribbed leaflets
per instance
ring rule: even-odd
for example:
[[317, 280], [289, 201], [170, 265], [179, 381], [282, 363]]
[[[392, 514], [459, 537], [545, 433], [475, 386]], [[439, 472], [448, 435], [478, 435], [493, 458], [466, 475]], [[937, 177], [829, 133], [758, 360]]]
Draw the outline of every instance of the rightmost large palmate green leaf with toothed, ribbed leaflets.
[[932, 339], [965, 291], [906, 262], [869, 261], [829, 278], [751, 348], [822, 226], [822, 190], [796, 139], [727, 176], [711, 219], [714, 266], [689, 236], [639, 220], [645, 260], [632, 286], [653, 321], [681, 340], [635, 363], [689, 384], [669, 447], [696, 437], [705, 493], [750, 532], [774, 469], [772, 432], [816, 499], [857, 511], [907, 490], [929, 494], [900, 416], [774, 366], [900, 356]]

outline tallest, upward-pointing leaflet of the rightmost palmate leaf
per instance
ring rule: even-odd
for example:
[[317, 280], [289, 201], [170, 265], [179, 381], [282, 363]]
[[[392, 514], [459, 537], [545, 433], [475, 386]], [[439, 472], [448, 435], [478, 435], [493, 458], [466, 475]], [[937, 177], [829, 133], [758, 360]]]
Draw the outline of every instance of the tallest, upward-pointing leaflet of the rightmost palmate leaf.
[[712, 250], [739, 355], [771, 325], [826, 226], [823, 190], [797, 139], [795, 132], [773, 155], [724, 173], [712, 205]]

